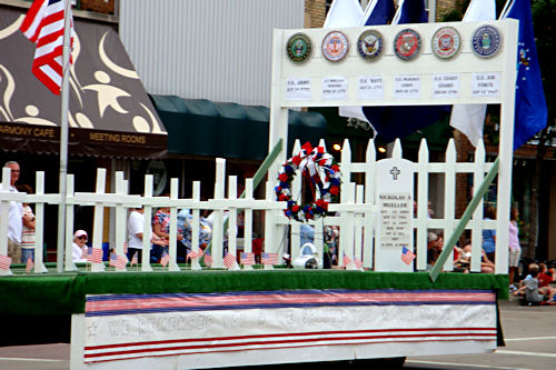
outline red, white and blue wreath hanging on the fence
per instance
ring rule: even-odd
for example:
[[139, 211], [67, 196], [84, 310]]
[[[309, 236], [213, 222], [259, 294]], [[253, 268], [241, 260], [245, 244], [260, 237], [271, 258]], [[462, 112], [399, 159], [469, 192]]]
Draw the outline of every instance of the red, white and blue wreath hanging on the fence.
[[[291, 183], [298, 171], [308, 180], [312, 192], [312, 200], [304, 204], [298, 204], [291, 193]], [[276, 200], [286, 201], [284, 212], [289, 219], [300, 222], [317, 220], [326, 216], [328, 203], [338, 202], [340, 186], [340, 167], [334, 157], [324, 147], [312, 148], [306, 142], [297, 156], [281, 166], [275, 187]]]

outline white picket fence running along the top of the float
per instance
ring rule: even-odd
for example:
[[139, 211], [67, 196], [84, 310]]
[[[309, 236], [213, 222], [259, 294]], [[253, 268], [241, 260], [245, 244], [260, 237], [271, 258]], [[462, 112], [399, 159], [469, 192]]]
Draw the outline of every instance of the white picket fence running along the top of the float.
[[[325, 146], [324, 140], [320, 146]], [[296, 141], [294, 154], [300, 150], [299, 141]], [[401, 144], [396, 141], [391, 158], [401, 159]], [[429, 229], [444, 230], [445, 240], [451, 234], [458, 220], [455, 217], [455, 189], [457, 173], [471, 173], [475, 189], [483, 182], [485, 173], [492, 168], [492, 163], [486, 162], [485, 148], [480, 143], [475, 151], [474, 162], [456, 162], [456, 150], [454, 141], [450, 140], [446, 150], [445, 162], [430, 162], [429, 151], [426, 140], [423, 140], [419, 148], [418, 161], [414, 162], [414, 172], [417, 176], [415, 198], [417, 199], [417, 216], [414, 218], [414, 228], [416, 228], [415, 250], [417, 254], [415, 270], [423, 271], [427, 269], [427, 232]], [[369, 140], [364, 162], [351, 161], [351, 149], [346, 140], [341, 151], [341, 176], [342, 186], [340, 193], [340, 202], [329, 204], [329, 211], [336, 212], [336, 216], [320, 218], [317, 221], [310, 222], [315, 228], [315, 246], [318, 251], [322, 251], [324, 236], [322, 230], [326, 226], [339, 227], [339, 250], [338, 256], [348, 256], [351, 260], [358, 258], [363, 261], [364, 267], [374, 269], [381, 261], [374, 259], [374, 236], [378, 232], [378, 207], [375, 199], [375, 169], [377, 163], [376, 148], [373, 140]], [[68, 176], [68, 193], [67, 193], [67, 224], [66, 224], [66, 256], [63, 269], [66, 271], [76, 270], [71, 257], [71, 243], [73, 236], [73, 208], [76, 206], [90, 206], [95, 209], [92, 224], [92, 247], [102, 248], [102, 236], [105, 227], [105, 209], [115, 208], [115, 240], [110, 240], [110, 246], [116, 248], [118, 254], [123, 254], [125, 242], [127, 238], [127, 217], [130, 208], [138, 206], [145, 207], [146, 232], [143, 236], [143, 256], [141, 271], [152, 271], [149, 263], [149, 240], [150, 240], [150, 220], [153, 210], [159, 207], [170, 208], [170, 240], [177, 239], [177, 214], [180, 209], [187, 208], [192, 214], [192, 250], [199, 248], [198, 230], [201, 210], [214, 211], [214, 229], [212, 229], [212, 268], [225, 268], [222, 259], [224, 236], [225, 236], [225, 214], [228, 214], [228, 251], [235, 256], [237, 250], [237, 211], [244, 211], [245, 214], [245, 243], [244, 251], [252, 251], [252, 230], [254, 230], [254, 211], [265, 212], [265, 242], [264, 250], [267, 252], [284, 253], [287, 251], [288, 236], [290, 237], [291, 256], [297, 257], [300, 248], [300, 223], [291, 221], [284, 214], [286, 208], [285, 202], [277, 202], [274, 188], [276, 186], [276, 176], [271, 174], [266, 183], [266, 198], [254, 198], [252, 179], [245, 179], [245, 198], [237, 197], [238, 179], [235, 176], [228, 177], [226, 183], [226, 161], [216, 159], [216, 183], [214, 198], [200, 200], [200, 182], [193, 181], [191, 198], [179, 198], [178, 179], [171, 179], [170, 197], [152, 197], [152, 176], [145, 177], [145, 193], [143, 196], [128, 194], [128, 180], [123, 178], [123, 172], [116, 172], [116, 191], [109, 193], [105, 189], [106, 169], [98, 169], [97, 186], [95, 192], [76, 192], [73, 189], [73, 176]], [[356, 184], [350, 181], [353, 173], [364, 173], [365, 184]], [[444, 173], [444, 218], [429, 219], [427, 213], [427, 203], [429, 198], [429, 174]], [[59, 204], [60, 196], [58, 193], [44, 193], [44, 173], [37, 172], [36, 193], [13, 193], [9, 192], [10, 169], [4, 168], [2, 171], [2, 186], [0, 190], [0, 220], [8, 219], [8, 207], [10, 201], [28, 202], [34, 204], [37, 220], [37, 250], [34, 272], [46, 272], [47, 269], [42, 262], [42, 244], [43, 244], [43, 221], [44, 221], [44, 204]], [[227, 188], [227, 196], [225, 193]], [[292, 193], [299, 192], [301, 189], [301, 177], [296, 177], [292, 183]], [[507, 221], [506, 221], [507, 224]], [[480, 271], [480, 253], [481, 253], [481, 231], [483, 229], [497, 229], [498, 221], [483, 220], [483, 204], [479, 204], [475, 211], [467, 229], [471, 230], [473, 257], [470, 270], [473, 272]], [[288, 228], [289, 231], [288, 232]], [[0, 222], [0, 254], [7, 254], [7, 222]], [[170, 243], [170, 261], [168, 264], [169, 271], [179, 271], [182, 267], [176, 262], [177, 248], [175, 243]], [[497, 246], [496, 273], [506, 273], [507, 271], [507, 248]], [[319, 256], [322, 257], [321, 253]], [[339, 258], [339, 266], [344, 264], [342, 258]], [[445, 270], [451, 270], [451, 258], [445, 264]], [[239, 268], [239, 267], [237, 267]], [[250, 266], [244, 266], [244, 269], [251, 269]], [[266, 269], [272, 267], [266, 266]], [[347, 269], [355, 269], [353, 263], [346, 266]], [[193, 259], [190, 266], [191, 270], [200, 270], [201, 266], [197, 259]], [[105, 271], [102, 263], [91, 263], [91, 271]], [[3, 274], [10, 274], [10, 271], [1, 271]]]

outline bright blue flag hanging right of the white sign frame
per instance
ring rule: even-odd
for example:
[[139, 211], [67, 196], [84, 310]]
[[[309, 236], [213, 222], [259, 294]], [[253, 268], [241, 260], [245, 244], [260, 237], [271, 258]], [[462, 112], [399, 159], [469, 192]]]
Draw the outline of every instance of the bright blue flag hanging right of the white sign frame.
[[529, 0], [514, 0], [502, 18], [519, 20], [514, 123], [514, 150], [516, 150], [546, 127], [548, 112], [533, 34]]

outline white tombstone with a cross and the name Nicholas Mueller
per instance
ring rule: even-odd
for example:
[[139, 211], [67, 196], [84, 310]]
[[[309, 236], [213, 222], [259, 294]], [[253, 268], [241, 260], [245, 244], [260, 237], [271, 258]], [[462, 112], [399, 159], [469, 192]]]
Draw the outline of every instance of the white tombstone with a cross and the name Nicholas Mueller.
[[414, 263], [404, 262], [401, 257], [404, 248], [414, 252], [413, 163], [405, 159], [379, 160], [375, 181], [378, 206], [375, 271], [410, 272]]

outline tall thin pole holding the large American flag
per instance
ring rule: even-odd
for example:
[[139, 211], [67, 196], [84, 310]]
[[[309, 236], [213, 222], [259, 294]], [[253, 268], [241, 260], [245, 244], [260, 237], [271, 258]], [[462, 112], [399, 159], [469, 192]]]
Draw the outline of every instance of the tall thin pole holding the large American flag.
[[71, 0], [66, 0], [63, 11], [63, 53], [62, 53], [62, 90], [60, 119], [60, 204], [58, 208], [58, 249], [56, 268], [63, 271], [66, 260], [66, 197], [68, 177], [68, 108], [69, 108], [69, 71], [70, 71], [70, 40], [71, 40]]

